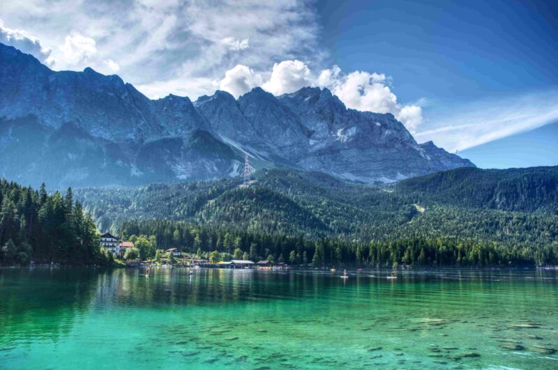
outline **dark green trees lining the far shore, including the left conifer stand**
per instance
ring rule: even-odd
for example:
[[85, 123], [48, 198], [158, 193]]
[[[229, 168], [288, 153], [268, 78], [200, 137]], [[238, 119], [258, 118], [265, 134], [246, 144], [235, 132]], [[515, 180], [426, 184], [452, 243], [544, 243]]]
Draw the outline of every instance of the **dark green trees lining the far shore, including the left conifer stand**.
[[[230, 197], [234, 199], [234, 196]], [[280, 201], [275, 194], [271, 201]], [[75, 201], [73, 191], [48, 194], [0, 180], [0, 264], [116, 265], [114, 255], [100, 247], [91, 213]], [[289, 204], [287, 204], [287, 207]], [[450, 208], [451, 209], [451, 208]], [[448, 208], [444, 209], [449, 212]], [[428, 211], [427, 211], [428, 212]], [[515, 217], [515, 216], [514, 216]], [[517, 217], [515, 217], [517, 218]], [[558, 242], [495, 241], [455, 233], [434, 234], [427, 221], [417, 229], [393, 231], [382, 238], [304, 235], [249, 230], [239, 222], [190, 222], [172, 219], [127, 219], [119, 235], [135, 249], [124, 260], [155, 259], [174, 247], [213, 261], [234, 258], [291, 265], [518, 266], [558, 265]], [[541, 224], [541, 222], [539, 222]], [[539, 227], [541, 227], [539, 225]], [[126, 258], [128, 257], [128, 258]]]

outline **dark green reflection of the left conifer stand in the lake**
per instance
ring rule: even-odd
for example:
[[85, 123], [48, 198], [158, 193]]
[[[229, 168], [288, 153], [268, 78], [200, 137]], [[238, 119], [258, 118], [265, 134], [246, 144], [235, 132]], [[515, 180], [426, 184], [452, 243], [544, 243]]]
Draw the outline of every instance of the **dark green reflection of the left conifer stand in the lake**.
[[0, 269], [0, 340], [56, 341], [86, 314], [97, 270]]

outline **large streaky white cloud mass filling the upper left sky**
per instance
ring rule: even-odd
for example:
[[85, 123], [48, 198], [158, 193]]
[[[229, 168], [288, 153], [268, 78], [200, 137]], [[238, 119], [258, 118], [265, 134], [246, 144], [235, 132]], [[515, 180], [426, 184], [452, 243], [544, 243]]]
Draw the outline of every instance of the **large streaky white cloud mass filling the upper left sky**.
[[[148, 95], [173, 88], [166, 93], [195, 99], [213, 93], [235, 65], [271, 70], [285, 59], [315, 65], [324, 56], [315, 7], [304, 0], [26, 0], [0, 8], [11, 28], [48, 42], [57, 70], [111, 71], [105, 61], [117, 61], [119, 75]], [[92, 43], [75, 45], [75, 31], [94, 40], [96, 52]]]

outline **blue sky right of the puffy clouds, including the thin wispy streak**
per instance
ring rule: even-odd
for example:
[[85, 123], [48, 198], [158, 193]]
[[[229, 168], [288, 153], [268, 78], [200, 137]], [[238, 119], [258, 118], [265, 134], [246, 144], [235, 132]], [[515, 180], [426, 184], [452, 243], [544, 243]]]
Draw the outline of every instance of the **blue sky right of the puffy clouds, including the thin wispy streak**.
[[[555, 1], [320, 1], [318, 8], [332, 61], [342, 70], [384, 71], [399, 100], [420, 103], [418, 141], [455, 151], [558, 121]], [[490, 167], [558, 164], [548, 140], [534, 150], [543, 138], [527, 135], [522, 145], [521, 137], [500, 162], [508, 141], [494, 153], [483, 145], [461, 154]]]

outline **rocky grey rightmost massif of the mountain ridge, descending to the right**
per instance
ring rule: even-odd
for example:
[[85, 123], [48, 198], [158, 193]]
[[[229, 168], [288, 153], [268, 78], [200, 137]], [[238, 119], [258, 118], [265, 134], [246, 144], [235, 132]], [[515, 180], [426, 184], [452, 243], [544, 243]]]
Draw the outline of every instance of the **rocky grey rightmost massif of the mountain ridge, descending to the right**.
[[310, 149], [297, 162], [303, 168], [386, 183], [473, 165], [433, 144], [417, 144], [392, 114], [347, 109], [326, 88], [302, 88], [278, 99], [312, 130]]

